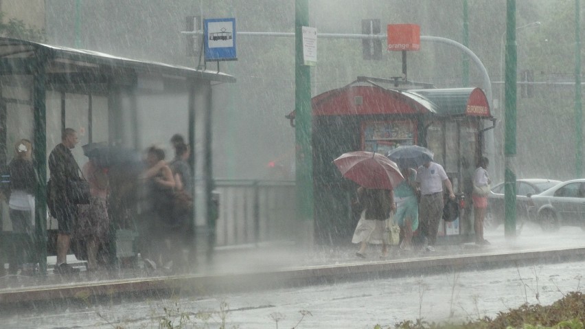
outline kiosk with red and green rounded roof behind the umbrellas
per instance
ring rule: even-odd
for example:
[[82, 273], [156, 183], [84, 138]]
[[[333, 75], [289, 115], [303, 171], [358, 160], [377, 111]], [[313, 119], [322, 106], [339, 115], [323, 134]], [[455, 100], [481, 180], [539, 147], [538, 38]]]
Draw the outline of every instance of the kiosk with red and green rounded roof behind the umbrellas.
[[[385, 84], [390, 87], [385, 87]], [[404, 85], [411, 88], [398, 88]], [[386, 154], [400, 145], [420, 145], [435, 153], [462, 207], [442, 222], [439, 241], [470, 240], [471, 177], [483, 153], [483, 133], [494, 128], [490, 106], [479, 88], [435, 89], [431, 84], [358, 77], [347, 86], [312, 98], [315, 238], [347, 242], [358, 220], [352, 212], [357, 185], [343, 179], [333, 159], [345, 152]], [[492, 122], [483, 128], [484, 121]]]

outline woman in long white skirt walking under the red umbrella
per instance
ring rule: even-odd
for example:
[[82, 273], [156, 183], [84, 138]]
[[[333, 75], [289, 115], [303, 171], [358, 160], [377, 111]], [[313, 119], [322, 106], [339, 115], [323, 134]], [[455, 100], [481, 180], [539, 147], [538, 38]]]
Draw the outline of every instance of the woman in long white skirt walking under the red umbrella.
[[353, 243], [360, 244], [356, 256], [365, 258], [368, 243], [382, 244], [382, 255], [388, 254], [388, 234], [386, 234], [386, 220], [390, 212], [396, 210], [394, 193], [392, 190], [374, 190], [360, 186], [358, 188], [358, 202], [363, 207], [360, 220], [354, 231]]

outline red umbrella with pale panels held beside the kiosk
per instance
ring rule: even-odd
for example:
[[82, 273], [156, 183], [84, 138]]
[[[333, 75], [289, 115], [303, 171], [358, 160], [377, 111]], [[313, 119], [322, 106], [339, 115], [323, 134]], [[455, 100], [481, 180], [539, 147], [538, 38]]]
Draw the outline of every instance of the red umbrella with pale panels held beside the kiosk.
[[391, 190], [404, 181], [396, 163], [374, 152], [355, 151], [333, 160], [343, 177], [364, 188]]

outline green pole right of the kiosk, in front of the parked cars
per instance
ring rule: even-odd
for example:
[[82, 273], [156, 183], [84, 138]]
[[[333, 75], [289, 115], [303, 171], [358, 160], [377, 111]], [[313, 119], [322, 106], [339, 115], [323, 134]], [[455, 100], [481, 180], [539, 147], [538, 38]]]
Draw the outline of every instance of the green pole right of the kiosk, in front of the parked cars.
[[516, 0], [506, 3], [505, 65], [505, 227], [506, 238], [516, 237]]

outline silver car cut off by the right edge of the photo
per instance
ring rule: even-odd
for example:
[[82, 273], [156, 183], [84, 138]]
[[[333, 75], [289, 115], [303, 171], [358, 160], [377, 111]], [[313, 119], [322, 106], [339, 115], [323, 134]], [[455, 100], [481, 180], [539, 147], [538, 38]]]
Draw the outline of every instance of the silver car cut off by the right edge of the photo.
[[585, 229], [585, 179], [565, 181], [530, 197], [531, 212], [544, 231], [558, 230], [561, 225]]

